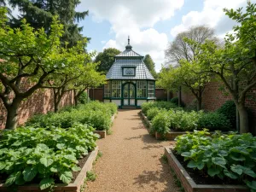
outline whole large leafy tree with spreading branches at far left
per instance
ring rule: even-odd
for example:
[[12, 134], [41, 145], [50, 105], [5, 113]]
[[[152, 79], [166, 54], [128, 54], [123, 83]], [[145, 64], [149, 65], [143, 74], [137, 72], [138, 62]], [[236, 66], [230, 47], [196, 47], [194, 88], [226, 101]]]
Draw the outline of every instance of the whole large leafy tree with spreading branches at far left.
[[7, 110], [5, 127], [15, 129], [20, 103], [42, 88], [50, 75], [83, 64], [87, 55], [81, 46], [75, 51], [60, 46], [63, 31], [56, 18], [47, 35], [44, 28], [34, 31], [26, 20], [21, 29], [12, 29], [6, 25], [6, 12], [0, 8], [0, 98]]

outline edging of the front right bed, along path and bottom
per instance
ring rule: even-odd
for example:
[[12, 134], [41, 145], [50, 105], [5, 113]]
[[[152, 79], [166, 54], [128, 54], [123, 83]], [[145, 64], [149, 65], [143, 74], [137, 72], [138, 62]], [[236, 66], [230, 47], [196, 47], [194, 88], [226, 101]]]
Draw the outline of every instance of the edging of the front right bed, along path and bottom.
[[247, 187], [242, 185], [221, 185], [221, 184], [196, 184], [189, 176], [189, 173], [179, 163], [177, 158], [172, 154], [172, 147], [165, 148], [165, 155], [169, 165], [177, 175], [186, 192], [249, 192]]

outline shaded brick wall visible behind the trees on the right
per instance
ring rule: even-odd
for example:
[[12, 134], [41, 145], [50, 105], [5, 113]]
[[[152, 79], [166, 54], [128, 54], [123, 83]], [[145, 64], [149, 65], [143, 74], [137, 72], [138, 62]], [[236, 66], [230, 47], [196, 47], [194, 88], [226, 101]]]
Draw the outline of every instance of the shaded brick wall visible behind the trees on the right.
[[[203, 92], [202, 96], [202, 108], [207, 111], [215, 111], [220, 108], [224, 102], [231, 100], [232, 97], [230, 95], [225, 96], [224, 93], [219, 89], [218, 82], [211, 82], [207, 84], [206, 89]], [[248, 95], [253, 95], [256, 97], [256, 87], [249, 91]], [[186, 105], [189, 105], [195, 96], [193, 96], [190, 92], [182, 93], [182, 100]], [[254, 101], [253, 101], [254, 100]], [[256, 134], [256, 101], [255, 98], [246, 100], [246, 107], [249, 108], [251, 112], [250, 121], [252, 122], [252, 131]]]

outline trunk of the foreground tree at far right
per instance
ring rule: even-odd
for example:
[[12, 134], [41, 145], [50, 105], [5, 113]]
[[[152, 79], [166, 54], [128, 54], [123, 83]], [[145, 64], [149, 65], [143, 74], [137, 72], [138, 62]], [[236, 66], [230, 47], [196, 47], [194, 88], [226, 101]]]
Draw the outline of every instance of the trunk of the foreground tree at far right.
[[242, 104], [238, 104], [237, 109], [239, 112], [240, 133], [249, 132], [249, 119], [247, 109]]

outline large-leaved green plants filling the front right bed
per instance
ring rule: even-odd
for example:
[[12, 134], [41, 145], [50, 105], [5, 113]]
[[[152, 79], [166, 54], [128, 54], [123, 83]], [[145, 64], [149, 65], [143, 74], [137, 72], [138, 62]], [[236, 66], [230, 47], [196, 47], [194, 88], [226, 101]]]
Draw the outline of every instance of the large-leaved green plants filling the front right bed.
[[243, 181], [255, 191], [256, 137], [219, 132], [208, 136], [207, 130], [178, 136], [175, 151], [188, 161], [189, 168], [201, 170], [210, 177]]

